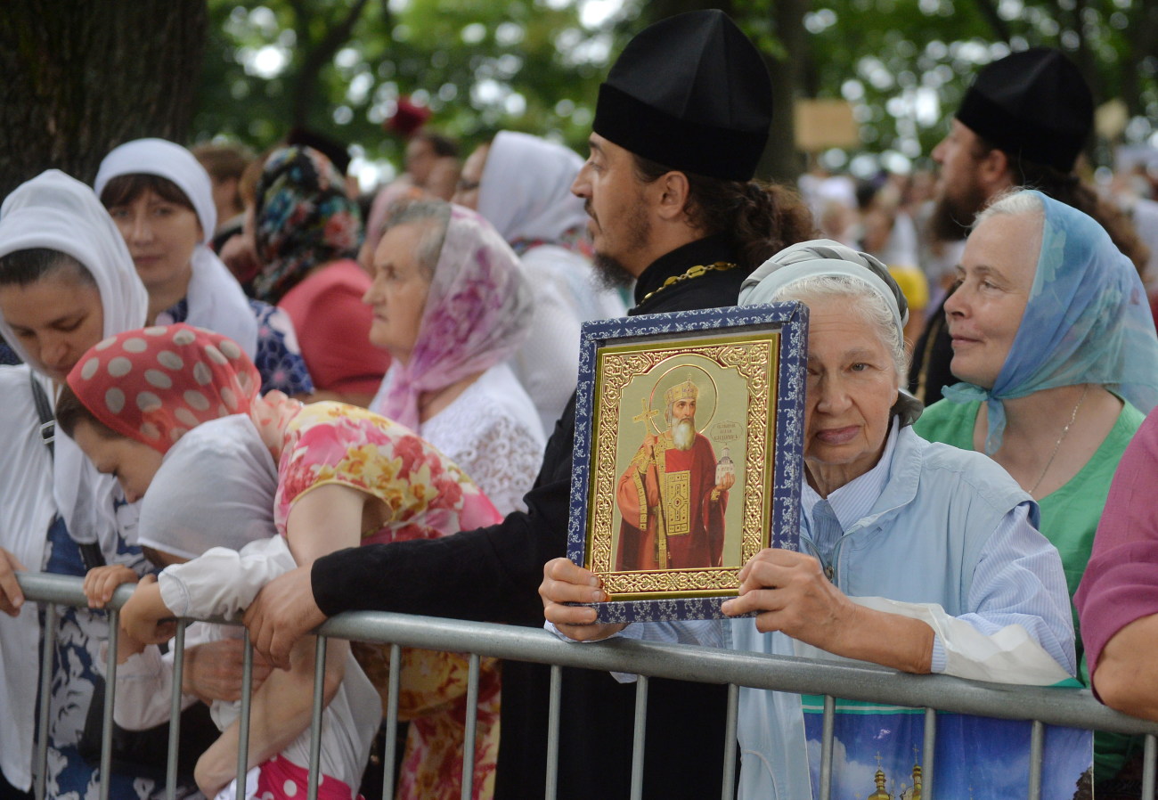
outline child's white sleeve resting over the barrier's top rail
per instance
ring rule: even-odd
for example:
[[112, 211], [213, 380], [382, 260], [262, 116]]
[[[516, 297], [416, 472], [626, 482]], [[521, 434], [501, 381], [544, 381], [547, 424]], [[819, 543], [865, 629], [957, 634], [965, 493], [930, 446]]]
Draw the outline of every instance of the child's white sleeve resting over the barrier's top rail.
[[178, 617], [236, 618], [263, 586], [296, 567], [281, 536], [250, 542], [240, 551], [212, 548], [167, 567], [157, 578], [161, 600]]

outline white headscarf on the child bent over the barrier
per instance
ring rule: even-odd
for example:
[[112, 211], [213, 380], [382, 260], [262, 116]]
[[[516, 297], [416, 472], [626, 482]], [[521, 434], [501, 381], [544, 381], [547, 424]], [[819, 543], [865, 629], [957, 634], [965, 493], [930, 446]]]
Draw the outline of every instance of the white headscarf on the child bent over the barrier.
[[138, 542], [183, 558], [277, 535], [278, 469], [248, 414], [203, 423], [164, 454], [141, 500]]

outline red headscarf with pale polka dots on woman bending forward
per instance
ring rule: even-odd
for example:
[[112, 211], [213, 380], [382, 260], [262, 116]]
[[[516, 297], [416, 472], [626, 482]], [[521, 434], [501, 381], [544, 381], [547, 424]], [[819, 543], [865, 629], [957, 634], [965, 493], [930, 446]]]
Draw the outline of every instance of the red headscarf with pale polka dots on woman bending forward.
[[177, 324], [94, 345], [68, 386], [98, 420], [164, 454], [201, 423], [248, 413], [262, 379], [233, 339]]

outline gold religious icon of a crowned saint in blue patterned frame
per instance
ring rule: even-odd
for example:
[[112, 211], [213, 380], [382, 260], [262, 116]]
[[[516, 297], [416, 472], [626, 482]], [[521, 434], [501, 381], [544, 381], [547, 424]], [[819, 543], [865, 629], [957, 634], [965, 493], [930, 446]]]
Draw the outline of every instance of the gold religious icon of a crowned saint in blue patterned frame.
[[601, 618], [718, 616], [748, 558], [796, 548], [806, 314], [584, 326], [569, 556], [602, 575]]

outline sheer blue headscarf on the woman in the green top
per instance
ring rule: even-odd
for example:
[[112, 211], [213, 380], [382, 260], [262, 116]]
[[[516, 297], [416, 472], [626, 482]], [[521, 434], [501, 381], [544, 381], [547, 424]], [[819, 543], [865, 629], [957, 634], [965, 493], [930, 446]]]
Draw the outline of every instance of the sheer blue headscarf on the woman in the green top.
[[1013, 345], [992, 389], [958, 383], [954, 403], [984, 401], [985, 453], [1002, 443], [1002, 401], [1097, 383], [1148, 413], [1158, 404], [1158, 336], [1146, 292], [1106, 230], [1077, 208], [1029, 191], [1045, 210], [1041, 255]]

